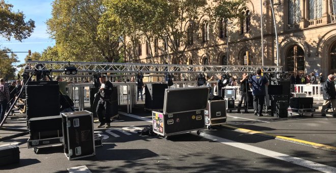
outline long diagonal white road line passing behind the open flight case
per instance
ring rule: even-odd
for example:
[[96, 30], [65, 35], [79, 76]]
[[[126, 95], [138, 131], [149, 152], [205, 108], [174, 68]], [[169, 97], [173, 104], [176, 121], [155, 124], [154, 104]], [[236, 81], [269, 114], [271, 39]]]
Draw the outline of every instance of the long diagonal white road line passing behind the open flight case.
[[[127, 114], [127, 113], [124, 113], [124, 112], [120, 112], [120, 113], [125, 115], [125, 116], [128, 116], [128, 117], [132, 117], [132, 118], [135, 118], [135, 119], [139, 119], [139, 120], [143, 120], [143, 121], [147, 121], [149, 123], [152, 123], [152, 120], [147, 119], [147, 118], [136, 116], [134, 114]], [[195, 133], [191, 133], [191, 134], [197, 135]], [[204, 138], [207, 138], [207, 139], [210, 139], [210, 140], [213, 140], [213, 141], [216, 141], [216, 142], [226, 144], [228, 146], [236, 147], [236, 148], [243, 149], [243, 150], [246, 150], [246, 151], [261, 154], [261, 155], [264, 155], [264, 156], [268, 156], [268, 157], [283, 160], [283, 161], [286, 161], [286, 162], [294, 163], [294, 164], [304, 166], [304, 167], [307, 167], [307, 168], [311, 168], [311, 169], [315, 169], [315, 170], [318, 170], [318, 171], [336, 172], [335, 167], [331, 167], [331, 166], [328, 166], [328, 165], [312, 162], [312, 161], [309, 161], [309, 160], [304, 160], [304, 159], [301, 159], [301, 158], [298, 158], [298, 157], [293, 157], [293, 156], [289, 156], [289, 155], [286, 155], [286, 154], [262, 149], [262, 148], [259, 148], [259, 147], [250, 146], [250, 145], [247, 145], [245, 143], [240, 143], [240, 142], [236, 142], [236, 141], [233, 141], [233, 140], [217, 137], [217, 136], [210, 135], [210, 134], [207, 134], [207, 133], [204, 133], [204, 132], [202, 132], [200, 134], [200, 136], [202, 136]]]

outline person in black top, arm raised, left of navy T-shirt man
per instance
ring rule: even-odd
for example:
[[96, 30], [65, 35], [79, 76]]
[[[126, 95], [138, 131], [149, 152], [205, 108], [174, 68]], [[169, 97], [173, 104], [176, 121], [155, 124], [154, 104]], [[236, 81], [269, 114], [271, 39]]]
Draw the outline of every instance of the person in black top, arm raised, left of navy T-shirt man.
[[240, 113], [241, 104], [244, 101], [244, 109], [245, 113], [248, 113], [248, 102], [247, 102], [247, 86], [248, 86], [248, 75], [243, 73], [242, 78], [239, 80], [240, 88], [239, 88], [239, 102], [237, 113]]

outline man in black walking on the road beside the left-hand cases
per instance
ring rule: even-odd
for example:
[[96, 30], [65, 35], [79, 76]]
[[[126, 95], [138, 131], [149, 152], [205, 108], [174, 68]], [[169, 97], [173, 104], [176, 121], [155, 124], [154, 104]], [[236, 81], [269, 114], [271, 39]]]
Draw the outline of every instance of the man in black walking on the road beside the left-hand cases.
[[[99, 125], [97, 126], [98, 128], [103, 127], [105, 124], [105, 129], [110, 128], [110, 117], [112, 114], [112, 93], [113, 93], [113, 84], [109, 81], [106, 80], [106, 76], [102, 75], [99, 78], [99, 81], [101, 83], [100, 85], [100, 89], [97, 93], [97, 95], [99, 96], [99, 101], [98, 101], [98, 105], [97, 105], [97, 116], [99, 119]], [[103, 119], [103, 111], [105, 110], [105, 121]]]

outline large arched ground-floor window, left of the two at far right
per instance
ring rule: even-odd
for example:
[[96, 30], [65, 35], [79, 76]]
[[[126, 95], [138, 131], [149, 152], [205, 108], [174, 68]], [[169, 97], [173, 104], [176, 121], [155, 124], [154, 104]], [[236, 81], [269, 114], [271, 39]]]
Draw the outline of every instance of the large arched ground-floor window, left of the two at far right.
[[304, 73], [305, 61], [304, 61], [304, 51], [298, 46], [292, 46], [286, 55], [286, 67], [288, 72], [294, 74]]

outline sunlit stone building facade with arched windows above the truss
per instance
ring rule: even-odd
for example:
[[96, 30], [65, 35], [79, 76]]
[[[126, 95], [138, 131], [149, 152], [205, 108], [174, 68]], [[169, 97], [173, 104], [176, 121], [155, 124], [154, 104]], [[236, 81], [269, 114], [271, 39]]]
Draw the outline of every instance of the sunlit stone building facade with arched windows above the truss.
[[[336, 0], [273, 0], [278, 35], [278, 65], [290, 73], [336, 72]], [[263, 52], [261, 40], [263, 11]], [[135, 48], [133, 63], [275, 66], [276, 42], [271, 4], [267, 0], [247, 1], [240, 8], [243, 19], [210, 21], [200, 17], [199, 31], [191, 33], [190, 21], [184, 23], [186, 39], [175, 42], [142, 39]], [[151, 42], [152, 44], [150, 44]], [[167, 44], [186, 49], [176, 60]], [[151, 62], [150, 48], [153, 50]], [[262, 60], [262, 54], [264, 58]], [[126, 57], [127, 60], [127, 57]]]

